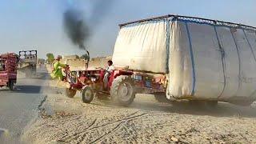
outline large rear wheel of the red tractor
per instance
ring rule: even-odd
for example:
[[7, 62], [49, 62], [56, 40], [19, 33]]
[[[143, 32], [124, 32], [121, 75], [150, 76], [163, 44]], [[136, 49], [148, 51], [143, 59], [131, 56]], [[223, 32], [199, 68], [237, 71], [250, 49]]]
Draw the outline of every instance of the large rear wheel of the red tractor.
[[122, 106], [129, 106], [134, 102], [134, 81], [127, 75], [118, 76], [114, 79], [110, 88], [110, 96]]

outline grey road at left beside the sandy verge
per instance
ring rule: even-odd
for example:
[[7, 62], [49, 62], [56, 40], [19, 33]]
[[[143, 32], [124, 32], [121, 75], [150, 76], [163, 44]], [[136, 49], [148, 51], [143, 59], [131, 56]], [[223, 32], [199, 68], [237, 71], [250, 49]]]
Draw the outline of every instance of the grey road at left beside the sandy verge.
[[42, 94], [45, 77], [44, 73], [37, 74], [34, 78], [20, 77], [13, 91], [1, 88], [0, 143], [20, 142], [22, 131], [33, 118], [37, 117], [38, 108], [46, 98], [46, 95]]

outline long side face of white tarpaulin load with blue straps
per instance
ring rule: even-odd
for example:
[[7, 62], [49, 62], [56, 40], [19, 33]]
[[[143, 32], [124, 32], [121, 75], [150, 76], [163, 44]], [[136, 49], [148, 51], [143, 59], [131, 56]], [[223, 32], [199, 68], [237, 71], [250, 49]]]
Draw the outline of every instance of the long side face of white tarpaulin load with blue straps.
[[181, 98], [256, 98], [253, 30], [175, 21], [167, 93]]

